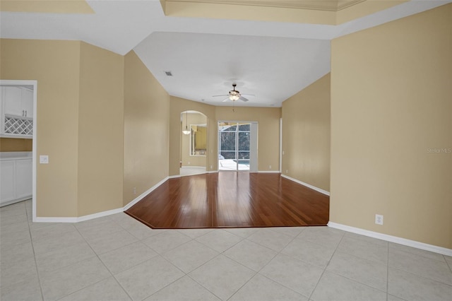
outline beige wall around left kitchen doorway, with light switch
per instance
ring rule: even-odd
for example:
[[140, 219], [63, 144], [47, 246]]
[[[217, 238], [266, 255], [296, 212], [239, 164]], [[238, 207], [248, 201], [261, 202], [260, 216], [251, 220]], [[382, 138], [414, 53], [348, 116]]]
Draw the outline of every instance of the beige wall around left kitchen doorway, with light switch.
[[37, 81], [37, 216], [77, 216], [81, 42], [0, 40], [0, 78]]

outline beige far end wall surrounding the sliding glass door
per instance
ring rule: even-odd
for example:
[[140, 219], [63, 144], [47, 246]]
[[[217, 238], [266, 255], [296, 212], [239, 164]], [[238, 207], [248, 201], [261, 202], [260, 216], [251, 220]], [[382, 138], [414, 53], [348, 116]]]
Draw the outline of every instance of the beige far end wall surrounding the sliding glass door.
[[[258, 122], [258, 171], [278, 171], [280, 165], [279, 107], [215, 107], [216, 121]], [[215, 136], [217, 124], [215, 124]], [[218, 159], [218, 157], [217, 157]], [[270, 166], [271, 165], [271, 169]]]

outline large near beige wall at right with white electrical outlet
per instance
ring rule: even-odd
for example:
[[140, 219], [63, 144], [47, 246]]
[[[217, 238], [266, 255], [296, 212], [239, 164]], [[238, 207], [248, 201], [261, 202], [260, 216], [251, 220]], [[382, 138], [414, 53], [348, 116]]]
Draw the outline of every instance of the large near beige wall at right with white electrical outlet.
[[332, 222], [452, 249], [451, 17], [448, 4], [333, 40]]

